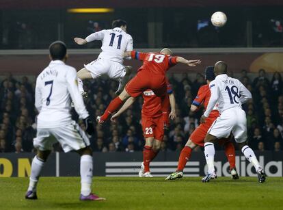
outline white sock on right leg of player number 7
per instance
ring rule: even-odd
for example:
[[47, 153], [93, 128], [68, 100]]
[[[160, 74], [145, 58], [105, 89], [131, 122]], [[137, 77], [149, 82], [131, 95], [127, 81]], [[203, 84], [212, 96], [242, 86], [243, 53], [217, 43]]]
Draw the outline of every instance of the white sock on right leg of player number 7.
[[88, 196], [92, 192], [92, 156], [81, 156], [81, 194]]

